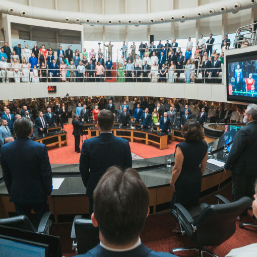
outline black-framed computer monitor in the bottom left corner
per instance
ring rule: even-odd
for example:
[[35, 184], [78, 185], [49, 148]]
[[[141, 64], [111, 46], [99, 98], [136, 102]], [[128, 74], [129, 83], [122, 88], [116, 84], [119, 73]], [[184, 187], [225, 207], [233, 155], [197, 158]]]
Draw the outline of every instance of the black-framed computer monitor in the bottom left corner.
[[[10, 245], [14, 246], [12, 251]], [[18, 249], [26, 254], [17, 254]], [[13, 255], [3, 255], [3, 252], [11, 252]], [[59, 237], [7, 226], [0, 226], [0, 253], [1, 257], [62, 257]]]

